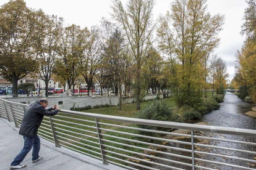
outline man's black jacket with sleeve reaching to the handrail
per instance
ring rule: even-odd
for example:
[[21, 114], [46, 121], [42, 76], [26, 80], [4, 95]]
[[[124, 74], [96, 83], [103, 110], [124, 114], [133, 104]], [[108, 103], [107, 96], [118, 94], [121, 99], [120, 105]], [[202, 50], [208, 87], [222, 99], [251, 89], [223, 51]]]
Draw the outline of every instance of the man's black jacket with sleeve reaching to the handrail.
[[57, 113], [58, 109], [53, 110], [53, 108], [48, 108], [46, 110], [39, 101], [32, 103], [25, 109], [19, 134], [22, 136], [35, 137], [43, 120], [43, 116], [53, 116]]

